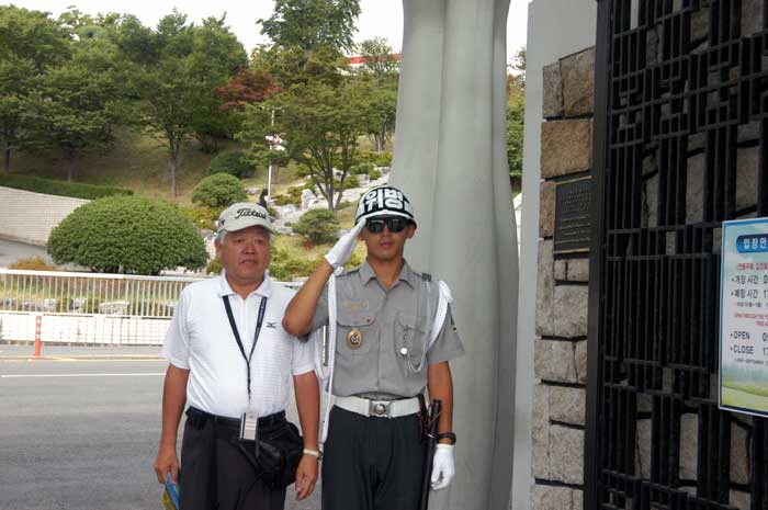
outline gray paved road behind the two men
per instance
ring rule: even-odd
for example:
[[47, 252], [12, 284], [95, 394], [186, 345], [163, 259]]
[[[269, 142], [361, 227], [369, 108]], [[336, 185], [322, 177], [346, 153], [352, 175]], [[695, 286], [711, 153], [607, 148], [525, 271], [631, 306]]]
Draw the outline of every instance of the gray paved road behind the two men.
[[[0, 509], [159, 509], [151, 463], [166, 362], [8, 358], [30, 350], [0, 344]], [[319, 487], [301, 503], [291, 490], [287, 509], [319, 508]]]

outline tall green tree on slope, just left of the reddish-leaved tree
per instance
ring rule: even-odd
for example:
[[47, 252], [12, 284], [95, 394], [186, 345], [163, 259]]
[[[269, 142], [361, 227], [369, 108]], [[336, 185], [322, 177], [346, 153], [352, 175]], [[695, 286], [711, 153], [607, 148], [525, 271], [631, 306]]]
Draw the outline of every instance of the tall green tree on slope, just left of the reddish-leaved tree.
[[[135, 124], [168, 150], [171, 196], [181, 149], [196, 136], [206, 146], [212, 138], [234, 131], [221, 111], [215, 93], [246, 64], [246, 53], [224, 19], [207, 19], [201, 27], [173, 11], [160, 20], [151, 34], [131, 21], [121, 36], [131, 49], [132, 92], [137, 99]], [[137, 58], [135, 48], [157, 48], [154, 60]], [[140, 57], [140, 56], [138, 56]]]

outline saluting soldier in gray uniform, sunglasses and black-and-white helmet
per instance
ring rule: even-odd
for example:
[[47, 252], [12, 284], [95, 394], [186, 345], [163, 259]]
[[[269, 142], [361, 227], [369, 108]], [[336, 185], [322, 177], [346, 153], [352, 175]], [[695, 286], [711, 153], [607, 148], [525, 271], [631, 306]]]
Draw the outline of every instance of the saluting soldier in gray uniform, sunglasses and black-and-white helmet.
[[[335, 333], [328, 382], [332, 408], [321, 438], [324, 510], [417, 509], [426, 462], [418, 396], [425, 388], [443, 403], [431, 488], [448, 487], [455, 474], [448, 362], [464, 349], [448, 286], [414, 271], [403, 258], [415, 233], [413, 208], [399, 190], [370, 190], [358, 205], [355, 227], [326, 254], [285, 311], [283, 327], [291, 335], [326, 325]], [[366, 260], [341, 273], [355, 238], [365, 243]]]

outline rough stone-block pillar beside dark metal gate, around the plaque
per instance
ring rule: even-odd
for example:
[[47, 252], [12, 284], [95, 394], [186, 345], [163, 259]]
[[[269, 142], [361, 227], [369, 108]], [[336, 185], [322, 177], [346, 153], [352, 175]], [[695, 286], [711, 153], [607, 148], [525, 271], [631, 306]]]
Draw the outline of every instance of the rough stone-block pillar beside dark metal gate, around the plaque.
[[555, 256], [557, 182], [589, 177], [595, 49], [544, 67], [534, 348], [533, 510], [580, 510], [587, 382], [588, 253]]

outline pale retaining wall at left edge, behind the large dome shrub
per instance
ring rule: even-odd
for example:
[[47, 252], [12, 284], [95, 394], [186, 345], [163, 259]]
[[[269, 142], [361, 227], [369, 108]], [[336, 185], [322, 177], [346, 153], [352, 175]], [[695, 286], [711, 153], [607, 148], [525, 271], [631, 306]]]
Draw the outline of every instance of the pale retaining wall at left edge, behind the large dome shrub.
[[50, 230], [87, 202], [0, 186], [0, 237], [45, 246]]

